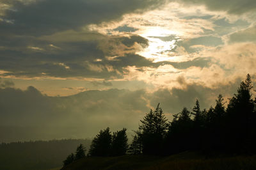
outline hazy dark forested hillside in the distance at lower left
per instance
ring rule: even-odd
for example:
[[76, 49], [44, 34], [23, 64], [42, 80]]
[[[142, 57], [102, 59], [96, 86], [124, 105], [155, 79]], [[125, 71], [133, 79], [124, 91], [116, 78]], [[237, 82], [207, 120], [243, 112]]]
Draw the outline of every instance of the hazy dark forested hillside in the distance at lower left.
[[65, 139], [52, 141], [29, 141], [0, 144], [0, 169], [4, 170], [46, 170], [61, 167], [63, 160], [76, 147], [84, 144], [88, 148], [88, 139]]

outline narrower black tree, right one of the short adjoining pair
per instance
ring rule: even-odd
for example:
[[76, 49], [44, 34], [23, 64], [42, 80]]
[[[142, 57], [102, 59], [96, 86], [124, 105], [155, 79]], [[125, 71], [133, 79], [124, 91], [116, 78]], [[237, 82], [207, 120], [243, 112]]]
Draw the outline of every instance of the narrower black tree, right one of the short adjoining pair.
[[126, 134], [126, 128], [123, 128], [120, 131], [114, 132], [112, 137], [111, 144], [111, 155], [119, 156], [125, 155], [128, 149], [128, 138]]

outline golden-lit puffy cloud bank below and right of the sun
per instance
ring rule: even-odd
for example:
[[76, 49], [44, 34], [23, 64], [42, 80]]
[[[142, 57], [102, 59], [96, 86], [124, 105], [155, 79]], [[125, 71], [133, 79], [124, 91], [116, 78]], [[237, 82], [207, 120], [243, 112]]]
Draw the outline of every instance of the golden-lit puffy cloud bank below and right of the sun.
[[124, 80], [143, 81], [156, 89], [184, 89], [178, 78], [184, 77], [188, 84], [198, 84], [216, 89], [236, 82], [247, 73], [255, 74], [255, 43], [234, 43], [211, 49], [203, 49], [198, 58], [181, 63], [164, 63], [158, 66], [127, 66]]

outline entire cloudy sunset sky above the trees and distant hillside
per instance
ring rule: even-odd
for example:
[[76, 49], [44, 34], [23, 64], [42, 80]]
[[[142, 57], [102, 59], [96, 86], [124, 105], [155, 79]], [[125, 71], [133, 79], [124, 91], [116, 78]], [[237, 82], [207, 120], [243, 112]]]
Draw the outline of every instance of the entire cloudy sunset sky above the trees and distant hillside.
[[0, 0], [0, 141], [227, 100], [247, 73], [255, 84], [255, 20], [255, 0]]

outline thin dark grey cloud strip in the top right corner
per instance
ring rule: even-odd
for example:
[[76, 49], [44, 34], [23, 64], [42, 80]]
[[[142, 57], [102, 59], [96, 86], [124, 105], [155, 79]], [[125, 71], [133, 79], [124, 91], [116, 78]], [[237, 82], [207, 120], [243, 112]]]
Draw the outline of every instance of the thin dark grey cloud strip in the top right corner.
[[176, 0], [185, 4], [205, 4], [209, 10], [225, 11], [233, 14], [255, 12], [255, 0]]

